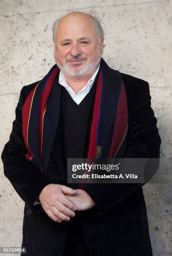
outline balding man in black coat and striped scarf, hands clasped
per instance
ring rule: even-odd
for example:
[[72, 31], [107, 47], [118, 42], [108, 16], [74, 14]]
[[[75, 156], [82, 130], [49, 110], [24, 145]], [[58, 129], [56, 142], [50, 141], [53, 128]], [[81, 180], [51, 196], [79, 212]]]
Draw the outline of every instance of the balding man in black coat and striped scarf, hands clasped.
[[149, 85], [109, 68], [91, 15], [56, 21], [53, 39], [58, 67], [21, 90], [2, 154], [25, 202], [22, 246], [29, 256], [151, 256], [143, 184], [72, 188], [66, 173], [67, 158], [159, 158]]

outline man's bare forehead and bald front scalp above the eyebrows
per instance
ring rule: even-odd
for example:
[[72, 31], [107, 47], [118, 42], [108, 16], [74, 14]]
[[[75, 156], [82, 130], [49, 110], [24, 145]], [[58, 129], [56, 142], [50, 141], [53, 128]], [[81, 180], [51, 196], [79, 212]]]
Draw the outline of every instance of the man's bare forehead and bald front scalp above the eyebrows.
[[56, 39], [66, 39], [69, 37], [97, 37], [93, 20], [85, 15], [62, 18], [58, 23]]

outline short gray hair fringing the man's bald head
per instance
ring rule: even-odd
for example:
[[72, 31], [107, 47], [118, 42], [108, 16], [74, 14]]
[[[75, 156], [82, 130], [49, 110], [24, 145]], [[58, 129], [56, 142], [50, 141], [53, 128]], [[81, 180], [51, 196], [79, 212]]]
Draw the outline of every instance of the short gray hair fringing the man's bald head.
[[[75, 14], [75, 13], [82, 13], [82, 12], [71, 12], [72, 14]], [[71, 14], [71, 13], [68, 13], [68, 14]], [[91, 14], [89, 13], [84, 13], [84, 14], [87, 14], [94, 22], [94, 25], [96, 27], [96, 31], [97, 31], [97, 35], [99, 37], [99, 39], [103, 36], [104, 37], [104, 31], [103, 31], [103, 28], [101, 27], [101, 24], [100, 24], [100, 19], [97, 18], [97, 17], [94, 17], [92, 16]], [[64, 16], [63, 16], [64, 17]], [[57, 26], [58, 26], [58, 23], [60, 22], [60, 20], [63, 18], [59, 18], [57, 19], [54, 23], [53, 23], [53, 42], [55, 43], [56, 42], [56, 31], [57, 31]]]

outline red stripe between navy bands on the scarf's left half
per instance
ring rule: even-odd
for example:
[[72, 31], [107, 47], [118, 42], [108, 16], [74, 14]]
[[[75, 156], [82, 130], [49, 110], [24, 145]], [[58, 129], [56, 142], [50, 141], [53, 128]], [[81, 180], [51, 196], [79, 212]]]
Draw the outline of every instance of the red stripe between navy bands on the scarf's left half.
[[58, 67], [56, 69], [54, 69], [53, 73], [50, 75], [50, 77], [48, 78], [48, 81], [43, 89], [41, 98], [40, 98], [40, 119], [39, 119], [39, 152], [40, 152], [40, 159], [41, 159], [41, 154], [42, 154], [42, 145], [43, 145], [43, 118], [46, 112], [46, 103], [48, 100], [48, 97], [50, 95], [50, 92], [52, 90], [53, 87], [53, 82], [57, 76], [59, 69]]

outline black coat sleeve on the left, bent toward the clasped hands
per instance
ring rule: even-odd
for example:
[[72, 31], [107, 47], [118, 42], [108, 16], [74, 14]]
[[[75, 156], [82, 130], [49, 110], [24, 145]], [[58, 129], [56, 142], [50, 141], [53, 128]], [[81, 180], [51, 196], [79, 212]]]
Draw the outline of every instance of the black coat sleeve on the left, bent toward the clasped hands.
[[22, 108], [26, 98], [25, 88], [24, 86], [20, 92], [10, 140], [5, 144], [1, 158], [5, 176], [10, 180], [27, 207], [34, 212], [37, 211], [33, 206], [34, 200], [40, 194], [43, 187], [51, 182], [40, 172], [38, 166], [25, 158], [25, 154], [28, 153], [22, 132]]

